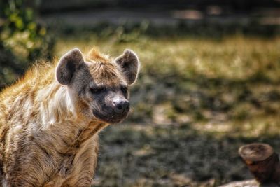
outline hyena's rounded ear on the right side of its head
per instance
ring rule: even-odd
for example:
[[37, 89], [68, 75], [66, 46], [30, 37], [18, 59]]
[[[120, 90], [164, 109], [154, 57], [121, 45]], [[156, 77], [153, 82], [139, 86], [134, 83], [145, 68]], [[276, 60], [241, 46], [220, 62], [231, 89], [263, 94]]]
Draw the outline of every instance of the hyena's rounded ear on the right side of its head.
[[116, 62], [127, 83], [132, 85], [137, 79], [140, 66], [137, 55], [132, 50], [127, 49], [123, 52], [123, 55], [116, 58]]

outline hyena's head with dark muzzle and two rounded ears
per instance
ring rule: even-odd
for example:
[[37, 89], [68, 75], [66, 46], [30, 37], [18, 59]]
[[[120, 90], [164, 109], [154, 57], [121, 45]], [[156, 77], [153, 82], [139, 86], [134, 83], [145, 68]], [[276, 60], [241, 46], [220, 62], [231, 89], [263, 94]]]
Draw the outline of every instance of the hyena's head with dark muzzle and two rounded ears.
[[111, 60], [92, 50], [87, 59], [75, 48], [57, 64], [57, 81], [66, 85], [79, 113], [90, 120], [120, 123], [130, 111], [129, 86], [137, 79], [139, 60], [132, 50]]

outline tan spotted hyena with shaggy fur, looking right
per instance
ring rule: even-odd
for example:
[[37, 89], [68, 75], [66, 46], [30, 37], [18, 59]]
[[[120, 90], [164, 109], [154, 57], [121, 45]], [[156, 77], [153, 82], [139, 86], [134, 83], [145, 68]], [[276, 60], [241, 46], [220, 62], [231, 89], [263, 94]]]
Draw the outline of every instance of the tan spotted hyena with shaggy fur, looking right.
[[130, 111], [139, 59], [75, 48], [0, 94], [0, 186], [90, 186], [98, 132]]

